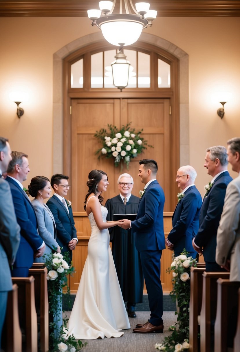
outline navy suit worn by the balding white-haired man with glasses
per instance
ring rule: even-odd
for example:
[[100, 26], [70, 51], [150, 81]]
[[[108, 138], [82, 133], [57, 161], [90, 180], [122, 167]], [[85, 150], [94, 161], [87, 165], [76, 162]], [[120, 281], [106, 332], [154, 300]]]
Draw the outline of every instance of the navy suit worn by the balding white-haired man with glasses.
[[192, 247], [192, 239], [199, 228], [202, 197], [196, 186], [189, 187], [184, 194], [172, 215], [172, 230], [169, 232], [168, 240], [173, 244], [175, 256], [179, 256], [185, 248], [190, 252], [190, 256], [196, 258], [197, 252]]

